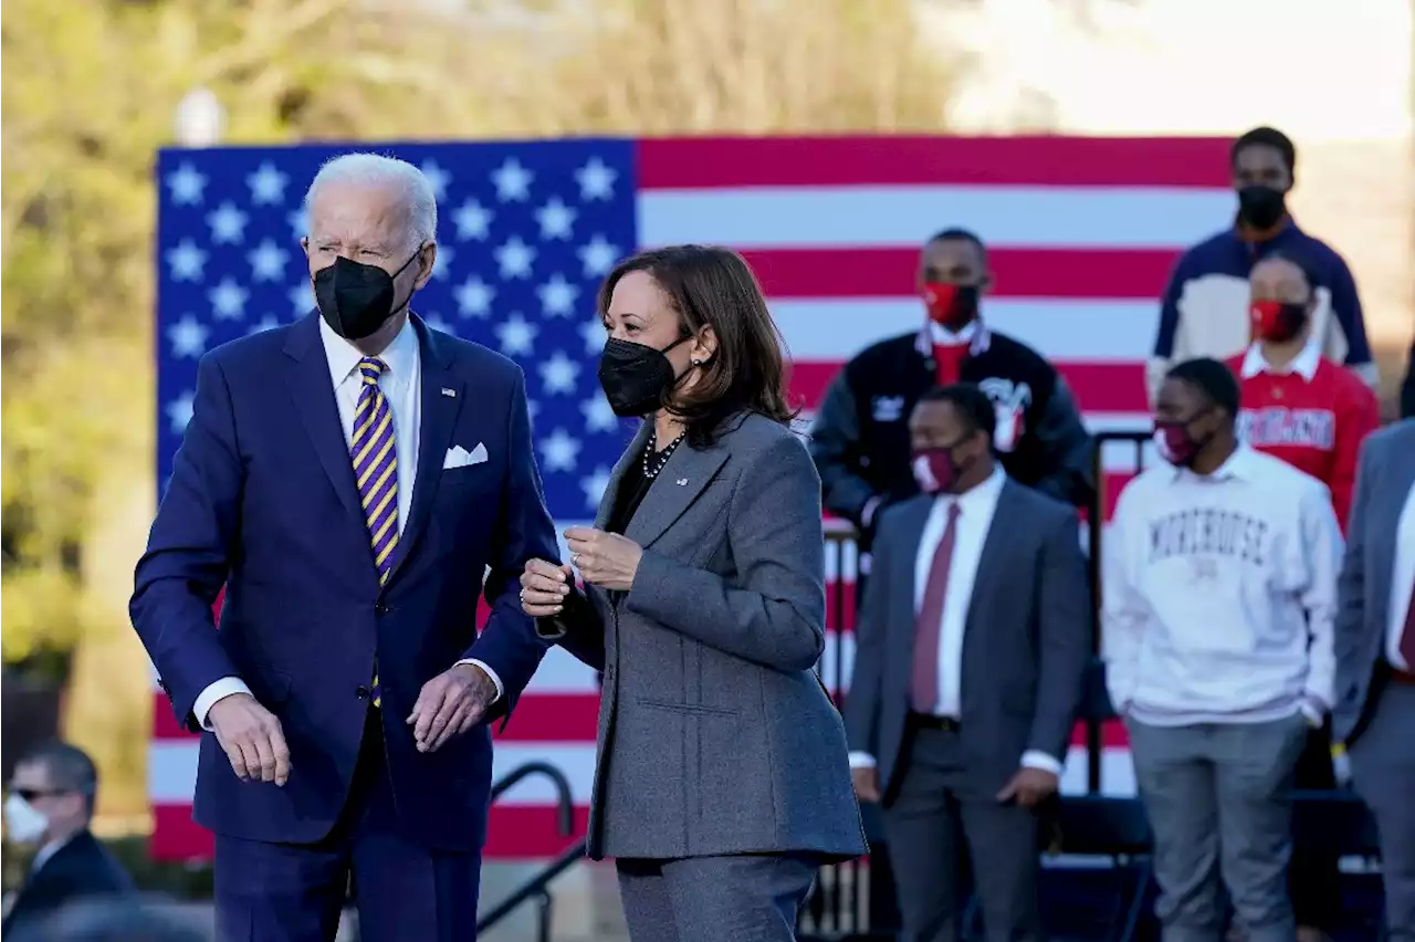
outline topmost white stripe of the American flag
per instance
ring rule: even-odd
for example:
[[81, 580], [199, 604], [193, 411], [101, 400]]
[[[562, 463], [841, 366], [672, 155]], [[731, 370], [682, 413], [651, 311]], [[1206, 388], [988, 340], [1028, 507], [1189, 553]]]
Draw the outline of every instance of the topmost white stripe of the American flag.
[[644, 246], [916, 248], [944, 226], [990, 248], [1180, 249], [1232, 216], [1230, 190], [1156, 187], [761, 187], [649, 190]]

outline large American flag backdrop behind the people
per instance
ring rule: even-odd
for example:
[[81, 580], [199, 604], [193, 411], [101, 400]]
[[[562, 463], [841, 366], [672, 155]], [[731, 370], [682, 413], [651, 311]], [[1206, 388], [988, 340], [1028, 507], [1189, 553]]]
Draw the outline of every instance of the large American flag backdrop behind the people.
[[[160, 156], [160, 485], [191, 416], [201, 355], [311, 310], [299, 246], [304, 190], [344, 150]], [[1232, 212], [1227, 143], [1201, 139], [565, 140], [378, 150], [422, 167], [437, 191], [439, 267], [415, 308], [526, 372], [546, 496], [562, 528], [593, 516], [633, 431], [596, 382], [604, 337], [593, 297], [610, 266], [635, 248], [706, 242], [741, 250], [770, 297], [794, 362], [792, 392], [809, 413], [852, 354], [918, 328], [921, 242], [945, 226], [974, 229], [990, 246], [998, 276], [988, 322], [1060, 366], [1092, 429], [1132, 429], [1146, 421], [1143, 361], [1169, 267]], [[1107, 463], [1114, 495], [1133, 457], [1108, 454]], [[838, 590], [848, 591], [850, 567], [828, 573]], [[835, 676], [832, 665], [825, 676]], [[156, 679], [153, 692], [153, 851], [204, 857], [211, 839], [191, 822], [198, 741], [175, 724]], [[555, 649], [497, 743], [498, 774], [543, 760], [569, 775], [582, 833], [597, 706], [594, 673]], [[1118, 730], [1107, 735], [1102, 769], [1107, 791], [1133, 789]], [[1084, 786], [1077, 748], [1065, 784]], [[567, 843], [556, 832], [553, 795], [536, 781], [508, 792], [491, 822], [490, 857], [550, 856]]]

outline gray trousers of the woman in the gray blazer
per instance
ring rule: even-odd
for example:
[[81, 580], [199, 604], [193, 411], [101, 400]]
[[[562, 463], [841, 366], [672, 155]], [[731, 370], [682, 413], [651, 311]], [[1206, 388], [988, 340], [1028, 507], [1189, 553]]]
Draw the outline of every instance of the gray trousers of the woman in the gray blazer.
[[631, 942], [794, 942], [816, 864], [802, 854], [618, 860]]

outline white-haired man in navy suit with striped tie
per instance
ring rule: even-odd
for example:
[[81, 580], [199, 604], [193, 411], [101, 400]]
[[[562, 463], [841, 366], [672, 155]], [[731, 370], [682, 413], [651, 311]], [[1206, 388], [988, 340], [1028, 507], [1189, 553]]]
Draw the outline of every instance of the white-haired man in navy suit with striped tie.
[[205, 731], [219, 938], [334, 939], [352, 870], [366, 942], [464, 942], [485, 723], [546, 651], [516, 600], [556, 546], [525, 382], [409, 313], [437, 255], [422, 171], [345, 154], [307, 209], [318, 310], [202, 359], [133, 625]]

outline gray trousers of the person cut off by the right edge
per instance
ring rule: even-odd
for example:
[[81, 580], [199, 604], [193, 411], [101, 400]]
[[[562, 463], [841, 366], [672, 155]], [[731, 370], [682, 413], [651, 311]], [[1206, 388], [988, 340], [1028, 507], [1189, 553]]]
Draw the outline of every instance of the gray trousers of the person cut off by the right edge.
[[1390, 942], [1415, 942], [1415, 686], [1381, 690], [1348, 755], [1380, 835]]

